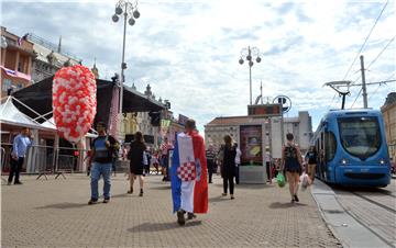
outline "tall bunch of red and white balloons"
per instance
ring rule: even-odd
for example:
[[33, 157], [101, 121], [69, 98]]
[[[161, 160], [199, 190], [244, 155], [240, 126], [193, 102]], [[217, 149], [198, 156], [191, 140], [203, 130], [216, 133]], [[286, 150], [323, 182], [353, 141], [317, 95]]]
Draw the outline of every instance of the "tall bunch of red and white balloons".
[[96, 80], [87, 67], [77, 65], [56, 71], [53, 115], [61, 136], [72, 143], [80, 140], [94, 123], [96, 108]]

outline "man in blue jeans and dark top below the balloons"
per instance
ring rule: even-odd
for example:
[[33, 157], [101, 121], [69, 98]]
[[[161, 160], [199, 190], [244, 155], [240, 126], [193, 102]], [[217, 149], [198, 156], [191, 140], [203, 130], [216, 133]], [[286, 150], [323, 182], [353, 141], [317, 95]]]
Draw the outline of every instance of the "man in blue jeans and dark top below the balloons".
[[100, 176], [103, 177], [103, 203], [110, 201], [111, 189], [111, 170], [113, 162], [114, 150], [119, 149], [119, 143], [114, 137], [108, 135], [107, 126], [103, 122], [97, 123], [97, 132], [99, 136], [92, 140], [92, 153], [89, 157], [89, 165], [91, 167], [91, 198], [88, 202], [89, 205], [98, 203], [98, 181]]

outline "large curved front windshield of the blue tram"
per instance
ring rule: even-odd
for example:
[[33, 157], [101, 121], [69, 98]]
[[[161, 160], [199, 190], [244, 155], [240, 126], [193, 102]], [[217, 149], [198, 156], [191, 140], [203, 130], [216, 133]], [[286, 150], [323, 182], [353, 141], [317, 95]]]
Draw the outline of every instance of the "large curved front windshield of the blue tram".
[[380, 125], [376, 117], [339, 119], [343, 148], [361, 159], [374, 155], [381, 146]]

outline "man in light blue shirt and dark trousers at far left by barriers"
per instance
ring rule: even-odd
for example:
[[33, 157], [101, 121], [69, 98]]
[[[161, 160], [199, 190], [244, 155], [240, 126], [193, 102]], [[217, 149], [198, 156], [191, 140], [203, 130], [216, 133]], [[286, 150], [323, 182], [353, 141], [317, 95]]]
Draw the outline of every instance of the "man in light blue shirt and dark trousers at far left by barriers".
[[20, 181], [20, 172], [22, 170], [23, 161], [28, 153], [28, 148], [33, 144], [33, 136], [28, 127], [23, 127], [21, 133], [14, 137], [10, 160], [10, 174], [8, 185], [11, 185], [14, 178], [14, 184], [22, 184]]

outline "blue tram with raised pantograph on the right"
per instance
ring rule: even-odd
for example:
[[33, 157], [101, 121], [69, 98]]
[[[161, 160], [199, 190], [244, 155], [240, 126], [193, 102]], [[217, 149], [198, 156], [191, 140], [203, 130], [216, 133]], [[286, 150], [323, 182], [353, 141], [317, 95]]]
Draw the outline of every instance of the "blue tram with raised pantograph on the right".
[[316, 176], [322, 181], [362, 187], [391, 183], [391, 161], [380, 111], [330, 111], [312, 142], [318, 150]]

